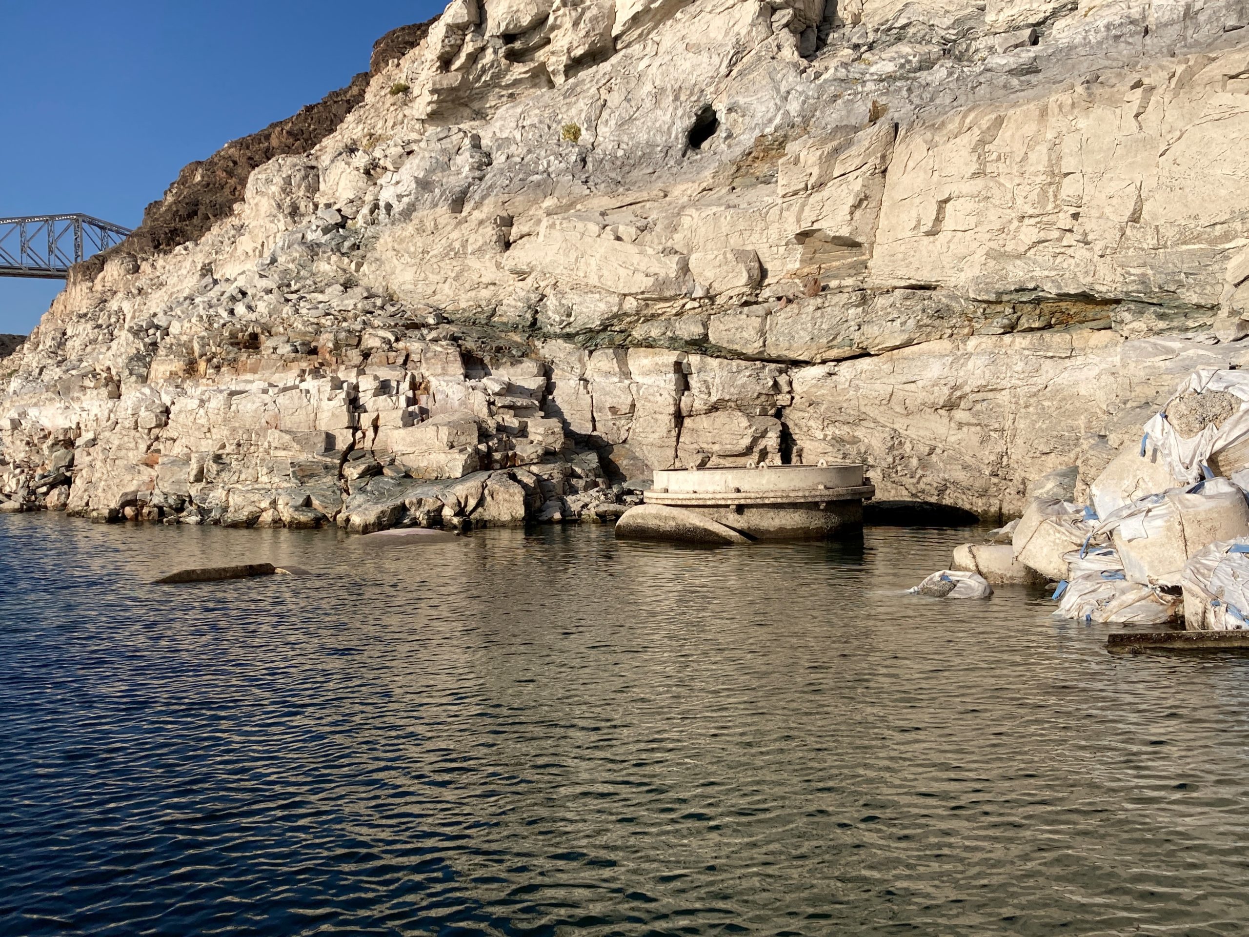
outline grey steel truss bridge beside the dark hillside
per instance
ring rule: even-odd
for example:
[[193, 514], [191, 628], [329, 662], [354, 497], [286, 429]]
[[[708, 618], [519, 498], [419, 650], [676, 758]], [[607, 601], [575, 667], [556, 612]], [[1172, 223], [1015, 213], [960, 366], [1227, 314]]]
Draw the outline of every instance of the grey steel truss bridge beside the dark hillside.
[[0, 217], [0, 276], [64, 280], [74, 264], [129, 234], [90, 215]]

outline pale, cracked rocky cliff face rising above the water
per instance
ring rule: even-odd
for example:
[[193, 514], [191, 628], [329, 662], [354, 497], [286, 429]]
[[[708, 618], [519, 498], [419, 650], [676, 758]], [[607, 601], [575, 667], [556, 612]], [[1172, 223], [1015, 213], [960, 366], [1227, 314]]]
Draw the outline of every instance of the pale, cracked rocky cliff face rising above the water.
[[456, 0], [211, 226], [79, 271], [5, 361], [0, 490], [368, 530], [851, 459], [1015, 512], [1249, 360], [1247, 22]]

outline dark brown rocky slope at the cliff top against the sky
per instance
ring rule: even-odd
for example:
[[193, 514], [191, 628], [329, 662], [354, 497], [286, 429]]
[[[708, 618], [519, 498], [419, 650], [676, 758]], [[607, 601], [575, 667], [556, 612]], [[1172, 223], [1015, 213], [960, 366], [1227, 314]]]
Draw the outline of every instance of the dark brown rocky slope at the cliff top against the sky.
[[[432, 22], [391, 30], [373, 44], [370, 71], [356, 75], [346, 87], [331, 91], [317, 104], [256, 134], [231, 140], [206, 160], [189, 164], [165, 191], [165, 197], [147, 206], [142, 224], [114, 251], [145, 257], [197, 240], [234, 211], [254, 169], [275, 156], [309, 152], [332, 134], [365, 99], [368, 79], [420, 45]], [[104, 255], [97, 255], [79, 265], [74, 277], [94, 279], [102, 269]]]

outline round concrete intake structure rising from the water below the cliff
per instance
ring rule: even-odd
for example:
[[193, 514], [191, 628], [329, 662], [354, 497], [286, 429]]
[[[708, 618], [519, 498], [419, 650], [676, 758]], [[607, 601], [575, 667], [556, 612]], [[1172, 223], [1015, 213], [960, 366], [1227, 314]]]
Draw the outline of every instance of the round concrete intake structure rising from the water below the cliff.
[[[646, 506], [689, 511], [752, 540], [799, 540], [863, 523], [863, 501], [874, 493], [862, 465], [761, 465], [656, 471], [644, 497]], [[639, 508], [626, 512], [618, 535], [683, 538], [652, 515], [659, 518]]]

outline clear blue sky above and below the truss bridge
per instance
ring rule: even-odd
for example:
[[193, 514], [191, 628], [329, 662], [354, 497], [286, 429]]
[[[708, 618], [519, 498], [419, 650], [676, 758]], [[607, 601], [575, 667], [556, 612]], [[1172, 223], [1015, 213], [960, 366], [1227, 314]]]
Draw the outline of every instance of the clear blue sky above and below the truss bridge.
[[[82, 211], [134, 227], [179, 170], [368, 69], [427, 0], [0, 0], [0, 217]], [[0, 332], [57, 281], [0, 277]]]

